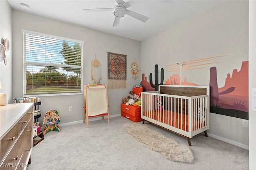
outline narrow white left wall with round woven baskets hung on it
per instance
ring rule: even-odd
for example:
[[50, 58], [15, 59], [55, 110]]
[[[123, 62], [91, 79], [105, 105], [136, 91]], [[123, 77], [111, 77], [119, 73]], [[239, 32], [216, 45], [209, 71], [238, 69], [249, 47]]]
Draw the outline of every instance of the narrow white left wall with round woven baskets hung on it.
[[10, 50], [6, 52], [9, 57], [8, 65], [0, 62], [0, 81], [2, 89], [0, 93], [7, 93], [8, 103], [12, 103], [12, 8], [7, 0], [0, 0], [0, 40], [8, 38]]

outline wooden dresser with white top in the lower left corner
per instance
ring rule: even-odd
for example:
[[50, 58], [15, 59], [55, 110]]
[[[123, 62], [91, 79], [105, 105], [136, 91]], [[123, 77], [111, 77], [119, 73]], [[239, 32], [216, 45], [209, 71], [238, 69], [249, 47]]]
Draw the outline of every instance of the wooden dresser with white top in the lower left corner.
[[34, 103], [0, 106], [0, 169], [26, 169], [33, 146]]

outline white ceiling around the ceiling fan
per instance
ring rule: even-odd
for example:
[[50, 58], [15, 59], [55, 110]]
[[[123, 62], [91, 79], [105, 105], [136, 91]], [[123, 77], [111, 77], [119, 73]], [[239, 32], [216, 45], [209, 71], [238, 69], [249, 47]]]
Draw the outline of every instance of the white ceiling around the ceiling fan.
[[[86, 12], [84, 10], [85, 8], [113, 8], [111, 0], [8, 0], [11, 8], [16, 10], [138, 41], [217, 6], [225, 0], [130, 1], [138, 3], [127, 9], [148, 16], [146, 23], [126, 15], [120, 19], [119, 26], [112, 27], [115, 18], [113, 11]], [[20, 3], [27, 4], [30, 8], [25, 10], [21, 8]]]

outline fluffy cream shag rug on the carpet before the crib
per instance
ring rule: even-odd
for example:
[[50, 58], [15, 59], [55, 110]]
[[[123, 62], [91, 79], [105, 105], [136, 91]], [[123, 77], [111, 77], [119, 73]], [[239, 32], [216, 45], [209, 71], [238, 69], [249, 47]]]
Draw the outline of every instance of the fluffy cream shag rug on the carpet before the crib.
[[165, 158], [177, 162], [192, 163], [194, 156], [188, 146], [178, 144], [175, 140], [164, 136], [160, 132], [138, 123], [125, 123], [123, 128], [139, 142], [142, 142]]

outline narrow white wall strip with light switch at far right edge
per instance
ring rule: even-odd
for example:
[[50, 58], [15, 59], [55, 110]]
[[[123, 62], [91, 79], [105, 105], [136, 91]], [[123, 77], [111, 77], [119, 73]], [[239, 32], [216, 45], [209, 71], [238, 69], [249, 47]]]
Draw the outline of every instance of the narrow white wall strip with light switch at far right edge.
[[252, 111], [251, 88], [256, 88], [256, 1], [249, 1], [249, 168], [256, 169], [256, 111]]

